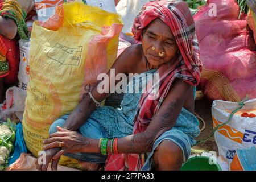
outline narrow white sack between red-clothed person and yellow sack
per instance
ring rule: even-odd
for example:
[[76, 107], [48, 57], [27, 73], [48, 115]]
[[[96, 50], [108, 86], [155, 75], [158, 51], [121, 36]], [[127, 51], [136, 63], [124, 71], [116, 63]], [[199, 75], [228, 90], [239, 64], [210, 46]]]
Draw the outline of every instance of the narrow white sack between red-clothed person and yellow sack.
[[20, 40], [19, 41], [20, 50], [20, 63], [19, 63], [19, 88], [27, 90], [28, 76], [30, 75], [30, 41]]

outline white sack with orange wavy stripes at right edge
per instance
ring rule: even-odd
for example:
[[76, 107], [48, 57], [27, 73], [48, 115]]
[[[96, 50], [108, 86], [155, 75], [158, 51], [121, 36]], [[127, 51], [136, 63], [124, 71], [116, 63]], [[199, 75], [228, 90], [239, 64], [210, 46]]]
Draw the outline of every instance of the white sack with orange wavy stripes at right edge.
[[[213, 101], [213, 127], [228, 121], [230, 113], [237, 107], [237, 102]], [[256, 117], [241, 117], [244, 112], [256, 114], [256, 99], [246, 101], [245, 106], [234, 114], [232, 120], [214, 134], [223, 169], [229, 169], [237, 148], [256, 146]]]

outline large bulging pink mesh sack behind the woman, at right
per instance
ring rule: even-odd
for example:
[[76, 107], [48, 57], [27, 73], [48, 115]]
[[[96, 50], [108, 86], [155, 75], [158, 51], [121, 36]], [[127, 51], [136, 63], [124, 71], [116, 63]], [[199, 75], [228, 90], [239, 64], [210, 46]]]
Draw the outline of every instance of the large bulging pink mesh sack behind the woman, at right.
[[256, 46], [238, 3], [208, 0], [193, 18], [204, 66], [200, 86], [205, 96], [233, 102], [246, 94], [256, 98]]

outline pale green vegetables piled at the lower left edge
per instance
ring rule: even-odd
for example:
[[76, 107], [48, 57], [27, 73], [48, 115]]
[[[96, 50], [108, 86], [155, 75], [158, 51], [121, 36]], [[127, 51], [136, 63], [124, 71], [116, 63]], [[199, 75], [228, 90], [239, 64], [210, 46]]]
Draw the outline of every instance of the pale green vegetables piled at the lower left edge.
[[0, 123], [0, 171], [6, 169], [9, 155], [14, 151], [15, 130], [15, 123], [10, 119]]

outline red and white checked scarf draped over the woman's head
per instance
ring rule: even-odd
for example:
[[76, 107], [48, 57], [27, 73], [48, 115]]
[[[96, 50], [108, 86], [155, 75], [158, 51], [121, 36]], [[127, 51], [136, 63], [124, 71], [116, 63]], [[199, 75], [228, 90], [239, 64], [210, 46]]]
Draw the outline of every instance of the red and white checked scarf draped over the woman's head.
[[[200, 61], [199, 44], [196, 38], [195, 22], [187, 3], [184, 1], [152, 1], [142, 7], [134, 20], [133, 34], [136, 40], [142, 40], [142, 32], [153, 20], [159, 18], [166, 23], [175, 37], [180, 54], [168, 63], [160, 65], [156, 71], [160, 77], [159, 97], [149, 99], [149, 93], [142, 94], [134, 118], [133, 134], [147, 129], [154, 114], [159, 110], [175, 78], [181, 78], [196, 86], [203, 69]], [[143, 45], [142, 45], [143, 46]], [[109, 155], [105, 170], [140, 170], [143, 166], [139, 154]]]

